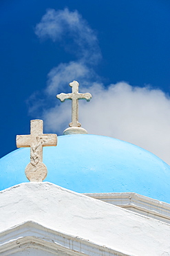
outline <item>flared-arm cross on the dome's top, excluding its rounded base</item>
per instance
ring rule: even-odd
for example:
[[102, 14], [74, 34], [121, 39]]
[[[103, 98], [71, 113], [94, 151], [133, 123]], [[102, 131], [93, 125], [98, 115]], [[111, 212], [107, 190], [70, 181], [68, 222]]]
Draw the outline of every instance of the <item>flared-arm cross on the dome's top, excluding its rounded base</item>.
[[78, 100], [91, 100], [92, 95], [90, 93], [78, 93], [78, 82], [73, 81], [69, 84], [72, 87], [72, 93], [60, 93], [56, 95], [56, 98], [64, 102], [65, 100], [72, 100], [72, 122], [70, 127], [81, 127], [81, 123], [78, 122]]

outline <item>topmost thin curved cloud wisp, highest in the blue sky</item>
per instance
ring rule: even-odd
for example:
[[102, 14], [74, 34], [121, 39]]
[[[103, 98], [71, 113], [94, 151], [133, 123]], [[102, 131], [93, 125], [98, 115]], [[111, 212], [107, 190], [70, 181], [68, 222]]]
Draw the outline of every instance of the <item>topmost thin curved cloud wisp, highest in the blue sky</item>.
[[65, 49], [73, 52], [81, 62], [94, 64], [100, 60], [96, 33], [76, 10], [47, 10], [41, 22], [36, 25], [35, 33], [53, 42], [62, 41]]

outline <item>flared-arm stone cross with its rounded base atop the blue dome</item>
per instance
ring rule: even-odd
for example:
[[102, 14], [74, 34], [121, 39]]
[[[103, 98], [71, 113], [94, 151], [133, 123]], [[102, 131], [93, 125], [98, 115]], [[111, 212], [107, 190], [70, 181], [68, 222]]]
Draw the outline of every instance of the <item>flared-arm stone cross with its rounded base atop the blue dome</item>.
[[78, 100], [91, 100], [92, 95], [90, 93], [78, 93], [78, 82], [70, 82], [72, 87], [72, 93], [60, 93], [56, 95], [56, 98], [64, 102], [65, 100], [72, 100], [72, 122], [70, 122], [70, 128], [65, 129], [63, 134], [87, 134], [87, 131], [81, 128], [81, 123], [78, 122]]

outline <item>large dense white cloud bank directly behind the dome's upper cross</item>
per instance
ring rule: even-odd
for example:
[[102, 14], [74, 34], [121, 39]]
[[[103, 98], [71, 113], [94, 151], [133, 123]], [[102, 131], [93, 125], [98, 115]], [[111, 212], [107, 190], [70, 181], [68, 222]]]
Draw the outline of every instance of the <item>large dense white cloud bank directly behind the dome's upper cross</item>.
[[[88, 89], [81, 86], [80, 91], [93, 95], [90, 102], [79, 101], [79, 121], [89, 134], [134, 143], [170, 164], [170, 99], [167, 95], [125, 82], [111, 84], [107, 89], [101, 84], [93, 84]], [[63, 130], [68, 127], [70, 103], [62, 103], [44, 113], [47, 129], [56, 131], [56, 127]]]

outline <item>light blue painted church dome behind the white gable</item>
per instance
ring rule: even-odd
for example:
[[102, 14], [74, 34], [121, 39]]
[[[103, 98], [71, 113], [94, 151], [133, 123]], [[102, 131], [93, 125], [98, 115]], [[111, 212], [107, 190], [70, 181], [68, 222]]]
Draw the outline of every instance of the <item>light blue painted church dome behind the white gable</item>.
[[[28, 182], [30, 149], [0, 159], [0, 190]], [[88, 134], [58, 137], [43, 148], [45, 181], [75, 192], [136, 192], [170, 203], [170, 166], [145, 149], [122, 140]]]

